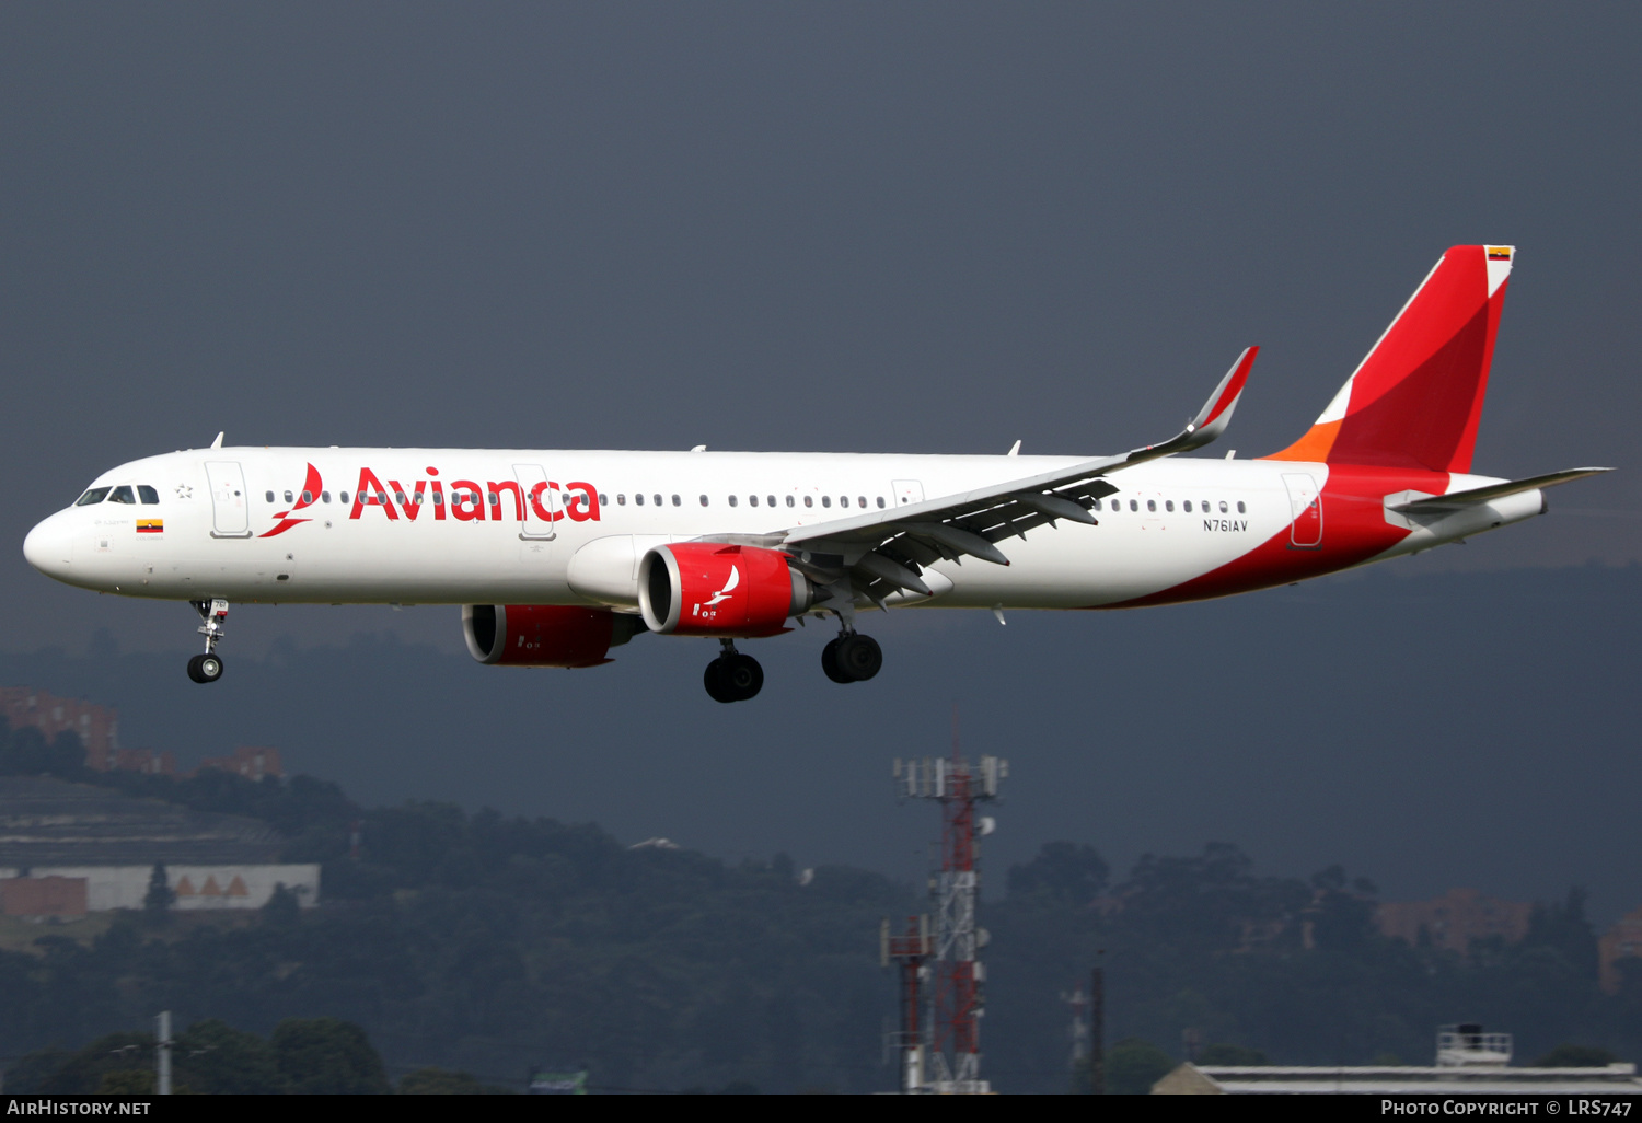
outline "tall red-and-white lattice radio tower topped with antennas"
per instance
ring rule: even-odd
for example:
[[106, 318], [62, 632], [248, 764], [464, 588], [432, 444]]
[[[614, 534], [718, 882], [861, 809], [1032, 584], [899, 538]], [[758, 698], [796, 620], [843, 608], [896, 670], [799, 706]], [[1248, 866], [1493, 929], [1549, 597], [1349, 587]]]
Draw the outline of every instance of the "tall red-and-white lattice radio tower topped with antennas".
[[1008, 773], [1008, 762], [998, 757], [982, 757], [972, 768], [959, 755], [956, 729], [951, 760], [924, 757], [895, 762], [901, 795], [941, 804], [941, 870], [931, 878], [934, 987], [926, 1092], [974, 1095], [990, 1090], [980, 1079], [980, 987], [985, 970], [977, 951], [987, 937], [975, 926], [975, 898], [980, 890], [979, 839], [992, 834], [997, 824], [990, 818], [977, 818], [975, 806], [997, 800], [998, 783]]

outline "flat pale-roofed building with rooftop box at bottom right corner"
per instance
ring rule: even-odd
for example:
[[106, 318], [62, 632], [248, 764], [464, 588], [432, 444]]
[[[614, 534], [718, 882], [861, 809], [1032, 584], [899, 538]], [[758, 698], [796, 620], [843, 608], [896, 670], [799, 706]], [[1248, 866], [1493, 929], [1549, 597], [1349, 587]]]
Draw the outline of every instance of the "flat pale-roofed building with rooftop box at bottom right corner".
[[1153, 1095], [1639, 1095], [1634, 1064], [1589, 1069], [1514, 1069], [1509, 1033], [1483, 1026], [1437, 1031], [1437, 1064], [1274, 1066], [1182, 1064], [1151, 1085]]

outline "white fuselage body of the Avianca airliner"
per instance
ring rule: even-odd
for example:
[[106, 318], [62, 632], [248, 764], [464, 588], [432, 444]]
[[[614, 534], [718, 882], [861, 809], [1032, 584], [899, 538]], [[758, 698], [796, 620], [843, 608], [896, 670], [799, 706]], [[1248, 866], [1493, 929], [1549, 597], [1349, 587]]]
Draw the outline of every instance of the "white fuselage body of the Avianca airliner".
[[[652, 545], [813, 527], [1079, 460], [210, 448], [103, 473], [94, 488], [146, 488], [158, 502], [67, 507], [41, 522], [25, 550], [61, 581], [126, 596], [632, 609], [637, 558]], [[1094, 512], [1098, 525], [1062, 520], [1010, 539], [1008, 566], [939, 562], [926, 570], [934, 575], [933, 598], [898, 601], [1098, 607], [1156, 596], [1284, 535], [1296, 524], [1296, 489], [1304, 493], [1309, 479], [1312, 494], [1322, 494], [1328, 471], [1322, 463], [1263, 460], [1140, 465], [1110, 478], [1118, 493]], [[1452, 476], [1435, 491], [1488, 481]], [[478, 501], [461, 497], [468, 493]], [[1392, 519], [1320, 509], [1323, 535], [1328, 519]], [[1406, 525], [1401, 540], [1348, 563], [1427, 548], [1539, 511], [1539, 493], [1512, 496], [1440, 525]], [[1302, 576], [1312, 575], [1315, 566]], [[1273, 570], [1264, 583], [1281, 580], [1286, 575]]]

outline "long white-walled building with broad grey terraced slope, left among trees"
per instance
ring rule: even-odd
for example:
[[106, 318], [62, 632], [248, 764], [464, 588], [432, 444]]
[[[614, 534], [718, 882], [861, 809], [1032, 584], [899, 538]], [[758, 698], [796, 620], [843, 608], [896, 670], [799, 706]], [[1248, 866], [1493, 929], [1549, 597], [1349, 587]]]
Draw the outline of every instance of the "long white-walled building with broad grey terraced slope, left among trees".
[[317, 905], [320, 867], [281, 862], [282, 847], [256, 819], [0, 777], [0, 910], [8, 916], [141, 908], [156, 864], [179, 911], [259, 908], [281, 883], [300, 905]]

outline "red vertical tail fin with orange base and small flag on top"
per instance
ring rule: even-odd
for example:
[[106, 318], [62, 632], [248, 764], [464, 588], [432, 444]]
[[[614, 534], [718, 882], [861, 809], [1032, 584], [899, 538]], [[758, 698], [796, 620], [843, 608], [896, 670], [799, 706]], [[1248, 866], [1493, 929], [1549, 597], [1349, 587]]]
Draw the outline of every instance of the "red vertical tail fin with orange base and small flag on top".
[[1317, 424], [1268, 460], [1470, 471], [1514, 246], [1455, 246]]

